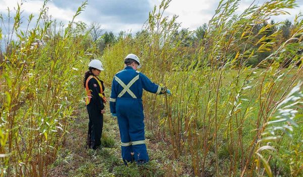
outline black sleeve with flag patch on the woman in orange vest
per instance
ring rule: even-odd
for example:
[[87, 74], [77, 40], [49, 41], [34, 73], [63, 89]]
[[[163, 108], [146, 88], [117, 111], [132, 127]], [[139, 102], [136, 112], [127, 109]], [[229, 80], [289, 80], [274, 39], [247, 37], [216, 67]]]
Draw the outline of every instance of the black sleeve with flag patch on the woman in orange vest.
[[103, 99], [99, 96], [100, 86], [94, 78], [88, 81], [88, 88], [91, 91], [91, 102], [97, 106], [98, 110], [104, 109]]

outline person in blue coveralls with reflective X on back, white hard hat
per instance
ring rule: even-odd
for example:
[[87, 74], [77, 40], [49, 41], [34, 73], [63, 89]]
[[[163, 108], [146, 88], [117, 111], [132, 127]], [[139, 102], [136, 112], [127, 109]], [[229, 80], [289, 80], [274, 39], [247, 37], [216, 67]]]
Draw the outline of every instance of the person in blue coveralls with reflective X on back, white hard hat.
[[149, 160], [144, 135], [143, 89], [156, 94], [170, 95], [171, 92], [137, 71], [141, 65], [135, 54], [128, 54], [124, 64], [125, 68], [114, 76], [112, 82], [110, 108], [112, 115], [118, 119], [124, 163], [135, 161], [143, 164]]

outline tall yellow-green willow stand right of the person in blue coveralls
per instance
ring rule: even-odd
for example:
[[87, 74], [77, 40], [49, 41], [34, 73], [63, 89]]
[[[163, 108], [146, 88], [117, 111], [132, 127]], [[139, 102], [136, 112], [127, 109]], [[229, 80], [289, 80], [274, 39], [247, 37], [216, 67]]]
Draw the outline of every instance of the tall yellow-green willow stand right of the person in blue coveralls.
[[[303, 45], [301, 16], [295, 19], [290, 38], [274, 51], [280, 31], [266, 34], [280, 24], [268, 24], [257, 33], [252, 32], [269, 17], [296, 7], [295, 1], [252, 4], [242, 14], [236, 13], [239, 1], [220, 1], [198, 46], [184, 44], [190, 33], [174, 35], [180, 27], [177, 16], [163, 16], [169, 3], [162, 1], [149, 13], [141, 33], [127, 36], [106, 49], [103, 60], [105, 67], [111, 70], [106, 82], [110, 84], [114, 74], [123, 68], [123, 57], [127, 53], [139, 55], [142, 72], [173, 92], [171, 97], [144, 94], [146, 127], [153, 130], [159, 140], [170, 140], [172, 158], [189, 156], [195, 176], [302, 174], [298, 165], [302, 159], [295, 162], [294, 154], [288, 154], [291, 158], [287, 159], [281, 158], [286, 153], [281, 150], [276, 155], [260, 155], [260, 151], [266, 149], [263, 136], [269, 131], [267, 125], [274, 119], [278, 105], [288, 98], [288, 93], [303, 76], [299, 54]], [[263, 37], [256, 40], [257, 35]], [[255, 68], [247, 66], [249, 59], [265, 51], [272, 54]], [[289, 65], [285, 65], [286, 62]], [[295, 122], [296, 119], [289, 117], [285, 121], [290, 127], [296, 124], [289, 120]], [[301, 122], [298, 126], [302, 126]], [[279, 141], [268, 139], [271, 148], [265, 147], [273, 150], [281, 145], [284, 150], [301, 153], [301, 137], [297, 136], [301, 134], [300, 129], [289, 129], [293, 131], [288, 134], [296, 136], [281, 135]], [[282, 132], [275, 135], [280, 137]], [[274, 172], [270, 168], [274, 168]]]

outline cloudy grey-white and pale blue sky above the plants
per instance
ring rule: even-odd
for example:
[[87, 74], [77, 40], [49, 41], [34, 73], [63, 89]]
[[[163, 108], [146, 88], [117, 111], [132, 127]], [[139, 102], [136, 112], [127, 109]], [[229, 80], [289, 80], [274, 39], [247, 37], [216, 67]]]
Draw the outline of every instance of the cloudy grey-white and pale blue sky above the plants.
[[[9, 7], [14, 11], [20, 0], [0, 0], [0, 13], [7, 17]], [[244, 0], [240, 4], [239, 11], [247, 8], [252, 1]], [[258, 1], [257, 1], [258, 2]], [[259, 0], [260, 3], [264, 2]], [[53, 19], [68, 23], [75, 14], [82, 0], [53, 0], [49, 1], [48, 12]], [[105, 31], [132, 31], [135, 33], [142, 28], [143, 23], [148, 18], [148, 13], [153, 10], [155, 5], [159, 5], [160, 0], [89, 0], [84, 12], [76, 18], [76, 21], [83, 21], [86, 24], [97, 22], [102, 25]], [[33, 13], [37, 15], [42, 7], [42, 0], [23, 1], [22, 10], [24, 19]], [[166, 11], [167, 16], [179, 15], [177, 22], [181, 22], [182, 28], [194, 30], [207, 23], [214, 15], [219, 0], [173, 0]], [[293, 20], [299, 12], [303, 12], [303, 1], [297, 1], [298, 7], [288, 12], [291, 15], [273, 17], [275, 21], [285, 19]]]

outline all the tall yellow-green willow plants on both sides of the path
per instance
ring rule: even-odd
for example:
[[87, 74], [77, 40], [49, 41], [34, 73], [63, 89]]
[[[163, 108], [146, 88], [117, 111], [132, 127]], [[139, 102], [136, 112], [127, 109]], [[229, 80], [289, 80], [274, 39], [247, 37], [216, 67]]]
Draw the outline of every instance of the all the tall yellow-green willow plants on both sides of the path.
[[[0, 31], [7, 42], [0, 53], [0, 176], [48, 176], [74, 131], [75, 112], [84, 110], [82, 79], [89, 59], [103, 62], [100, 78], [109, 94], [128, 53], [139, 56], [140, 72], [173, 93], [143, 94], [148, 137], [163, 142], [160, 149], [169, 148], [165, 158], [176, 164], [168, 169], [188, 167], [161, 175], [303, 175], [302, 16], [294, 19], [285, 42], [276, 40], [281, 31], [267, 33], [280, 23], [252, 32], [296, 8], [296, 2], [252, 3], [239, 14], [239, 1], [222, 0], [195, 45], [184, 42], [191, 32], [178, 33], [176, 15], [164, 15], [170, 2], [163, 0], [142, 31], [125, 34], [102, 55], [94, 43], [87, 44], [89, 31], [74, 30], [74, 18], [87, 2], [66, 28], [47, 18], [45, 1], [38, 19], [29, 17], [35, 27], [20, 30], [22, 7], [17, 9], [11, 29], [16, 38], [2, 39]], [[271, 54], [248, 65], [262, 52]], [[123, 176], [109, 176], [116, 175]]]

